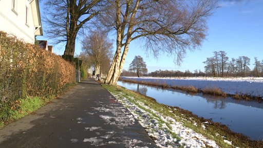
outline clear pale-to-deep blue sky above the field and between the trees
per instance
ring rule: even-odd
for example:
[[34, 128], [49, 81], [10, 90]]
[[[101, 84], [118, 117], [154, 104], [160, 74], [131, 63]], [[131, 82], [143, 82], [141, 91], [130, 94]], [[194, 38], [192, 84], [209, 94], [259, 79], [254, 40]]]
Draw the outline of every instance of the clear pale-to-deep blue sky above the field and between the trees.
[[[205, 64], [202, 62], [206, 61], [206, 58], [213, 57], [214, 51], [223, 50], [227, 52], [230, 59], [239, 56], [249, 57], [252, 69], [254, 57], [263, 60], [263, 0], [221, 0], [219, 4], [221, 7], [209, 17], [209, 31], [206, 40], [200, 49], [186, 53], [181, 66], [173, 62], [174, 55], [163, 53], [158, 59], [155, 59], [153, 55], [145, 52], [139, 41], [133, 41], [130, 43], [123, 68], [127, 70], [135, 55], [140, 55], [146, 62], [148, 72], [159, 69], [180, 71], [188, 69], [192, 72], [200, 69], [204, 71]], [[43, 38], [45, 36], [40, 40]], [[77, 41], [75, 54], [80, 53], [80, 48], [80, 41]], [[63, 54], [64, 49], [64, 46], [54, 46], [54, 53]]]

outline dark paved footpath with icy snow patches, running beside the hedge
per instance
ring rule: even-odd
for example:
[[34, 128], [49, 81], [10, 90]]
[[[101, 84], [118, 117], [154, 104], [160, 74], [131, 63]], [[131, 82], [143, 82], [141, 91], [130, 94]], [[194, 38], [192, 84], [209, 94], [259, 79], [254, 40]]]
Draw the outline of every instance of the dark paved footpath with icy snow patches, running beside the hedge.
[[0, 147], [157, 147], [94, 79], [0, 130]]

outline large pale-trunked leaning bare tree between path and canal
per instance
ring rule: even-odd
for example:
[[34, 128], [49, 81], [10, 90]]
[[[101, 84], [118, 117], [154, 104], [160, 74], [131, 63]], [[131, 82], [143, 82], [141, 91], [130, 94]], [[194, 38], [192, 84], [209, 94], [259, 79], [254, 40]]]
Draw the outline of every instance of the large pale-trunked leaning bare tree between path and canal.
[[116, 52], [105, 80], [110, 85], [117, 85], [129, 44], [139, 38], [156, 57], [159, 52], [175, 54], [179, 64], [187, 49], [198, 48], [205, 39], [206, 18], [217, 7], [213, 0], [108, 2], [100, 21], [116, 31]]

